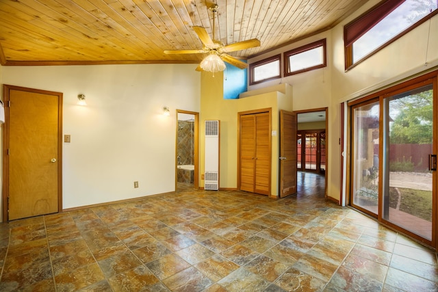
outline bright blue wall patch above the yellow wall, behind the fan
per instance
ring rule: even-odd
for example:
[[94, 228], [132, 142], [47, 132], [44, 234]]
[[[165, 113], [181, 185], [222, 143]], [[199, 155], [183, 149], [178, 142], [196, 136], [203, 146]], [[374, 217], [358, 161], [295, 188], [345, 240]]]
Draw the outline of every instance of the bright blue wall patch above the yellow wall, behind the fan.
[[[244, 61], [245, 62], [245, 61]], [[237, 99], [239, 94], [246, 92], [247, 69], [239, 69], [231, 64], [227, 65], [227, 70], [224, 71], [224, 99]]]

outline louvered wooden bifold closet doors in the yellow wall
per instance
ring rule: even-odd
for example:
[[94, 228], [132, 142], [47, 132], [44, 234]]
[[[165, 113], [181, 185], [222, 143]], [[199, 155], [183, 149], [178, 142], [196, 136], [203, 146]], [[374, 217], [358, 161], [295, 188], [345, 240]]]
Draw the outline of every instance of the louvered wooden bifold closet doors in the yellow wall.
[[240, 116], [240, 190], [270, 194], [270, 113]]

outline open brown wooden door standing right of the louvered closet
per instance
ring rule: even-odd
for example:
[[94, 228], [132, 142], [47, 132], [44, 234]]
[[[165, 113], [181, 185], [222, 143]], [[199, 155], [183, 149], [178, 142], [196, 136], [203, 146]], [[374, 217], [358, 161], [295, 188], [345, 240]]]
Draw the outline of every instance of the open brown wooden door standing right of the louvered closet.
[[280, 111], [280, 198], [296, 194], [296, 114]]

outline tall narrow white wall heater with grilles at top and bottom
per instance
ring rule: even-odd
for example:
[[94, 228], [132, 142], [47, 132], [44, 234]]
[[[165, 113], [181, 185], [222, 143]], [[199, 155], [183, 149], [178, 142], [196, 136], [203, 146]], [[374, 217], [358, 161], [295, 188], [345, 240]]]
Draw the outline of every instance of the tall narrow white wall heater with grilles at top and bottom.
[[204, 189], [219, 189], [219, 121], [205, 121]]

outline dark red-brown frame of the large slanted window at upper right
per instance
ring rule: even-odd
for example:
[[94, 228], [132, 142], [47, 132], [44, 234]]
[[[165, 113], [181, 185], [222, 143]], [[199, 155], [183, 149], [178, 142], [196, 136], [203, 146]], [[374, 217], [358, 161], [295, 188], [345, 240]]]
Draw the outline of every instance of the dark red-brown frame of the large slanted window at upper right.
[[[374, 21], [370, 21], [370, 19], [369, 19], [370, 14], [380, 12], [381, 14], [384, 14], [383, 17], [386, 17], [387, 14], [391, 13], [395, 9], [391, 5], [385, 5], [385, 4], [389, 3], [389, 1], [391, 1], [391, 0], [383, 1], [383, 3], [378, 3], [377, 5], [372, 7], [370, 10], [367, 10], [365, 13], [361, 14], [361, 16], [355, 18], [353, 21], [350, 21], [350, 23], [347, 23], [344, 26], [345, 71], [348, 71], [351, 68], [354, 68], [355, 66], [357, 66], [358, 64], [361, 64], [363, 61], [365, 61], [366, 59], [368, 59], [372, 55], [376, 54], [378, 51], [381, 51], [381, 49], [384, 49], [389, 44], [395, 42], [396, 40], [398, 40], [399, 38], [401, 38], [405, 34], [409, 33], [410, 31], [412, 31], [416, 27], [422, 25], [422, 23], [425, 23], [430, 18], [432, 18], [433, 16], [438, 14], [438, 9], [434, 10], [433, 12], [430, 12], [429, 14], [427, 14], [426, 16], [421, 18], [416, 23], [413, 23], [413, 25], [411, 25], [410, 27], [407, 27], [407, 29], [404, 29], [404, 31], [401, 31], [400, 34], [387, 40], [387, 42], [384, 42], [380, 47], [377, 47], [376, 49], [374, 49], [374, 51], [371, 51], [370, 53], [368, 53], [368, 55], [363, 56], [361, 59], [357, 60], [357, 62], [353, 63], [353, 43], [355, 41], [353, 40], [353, 41], [351, 41], [350, 44], [348, 44], [348, 40], [347, 40], [348, 29], [351, 28], [352, 25], [357, 25], [358, 23], [360, 25], [360, 23], [363, 23], [365, 25], [365, 27], [363, 27], [363, 29], [361, 30], [361, 34], [365, 34], [369, 29], [374, 27], [374, 25], [376, 25], [377, 23], [379, 23], [383, 19], [383, 18], [375, 18]], [[402, 2], [402, 1], [392, 1], [392, 2]], [[394, 4], [394, 5], [396, 5], [396, 4]], [[386, 11], [382, 10], [385, 8], [385, 6], [389, 6], [389, 7], [387, 7]]]

